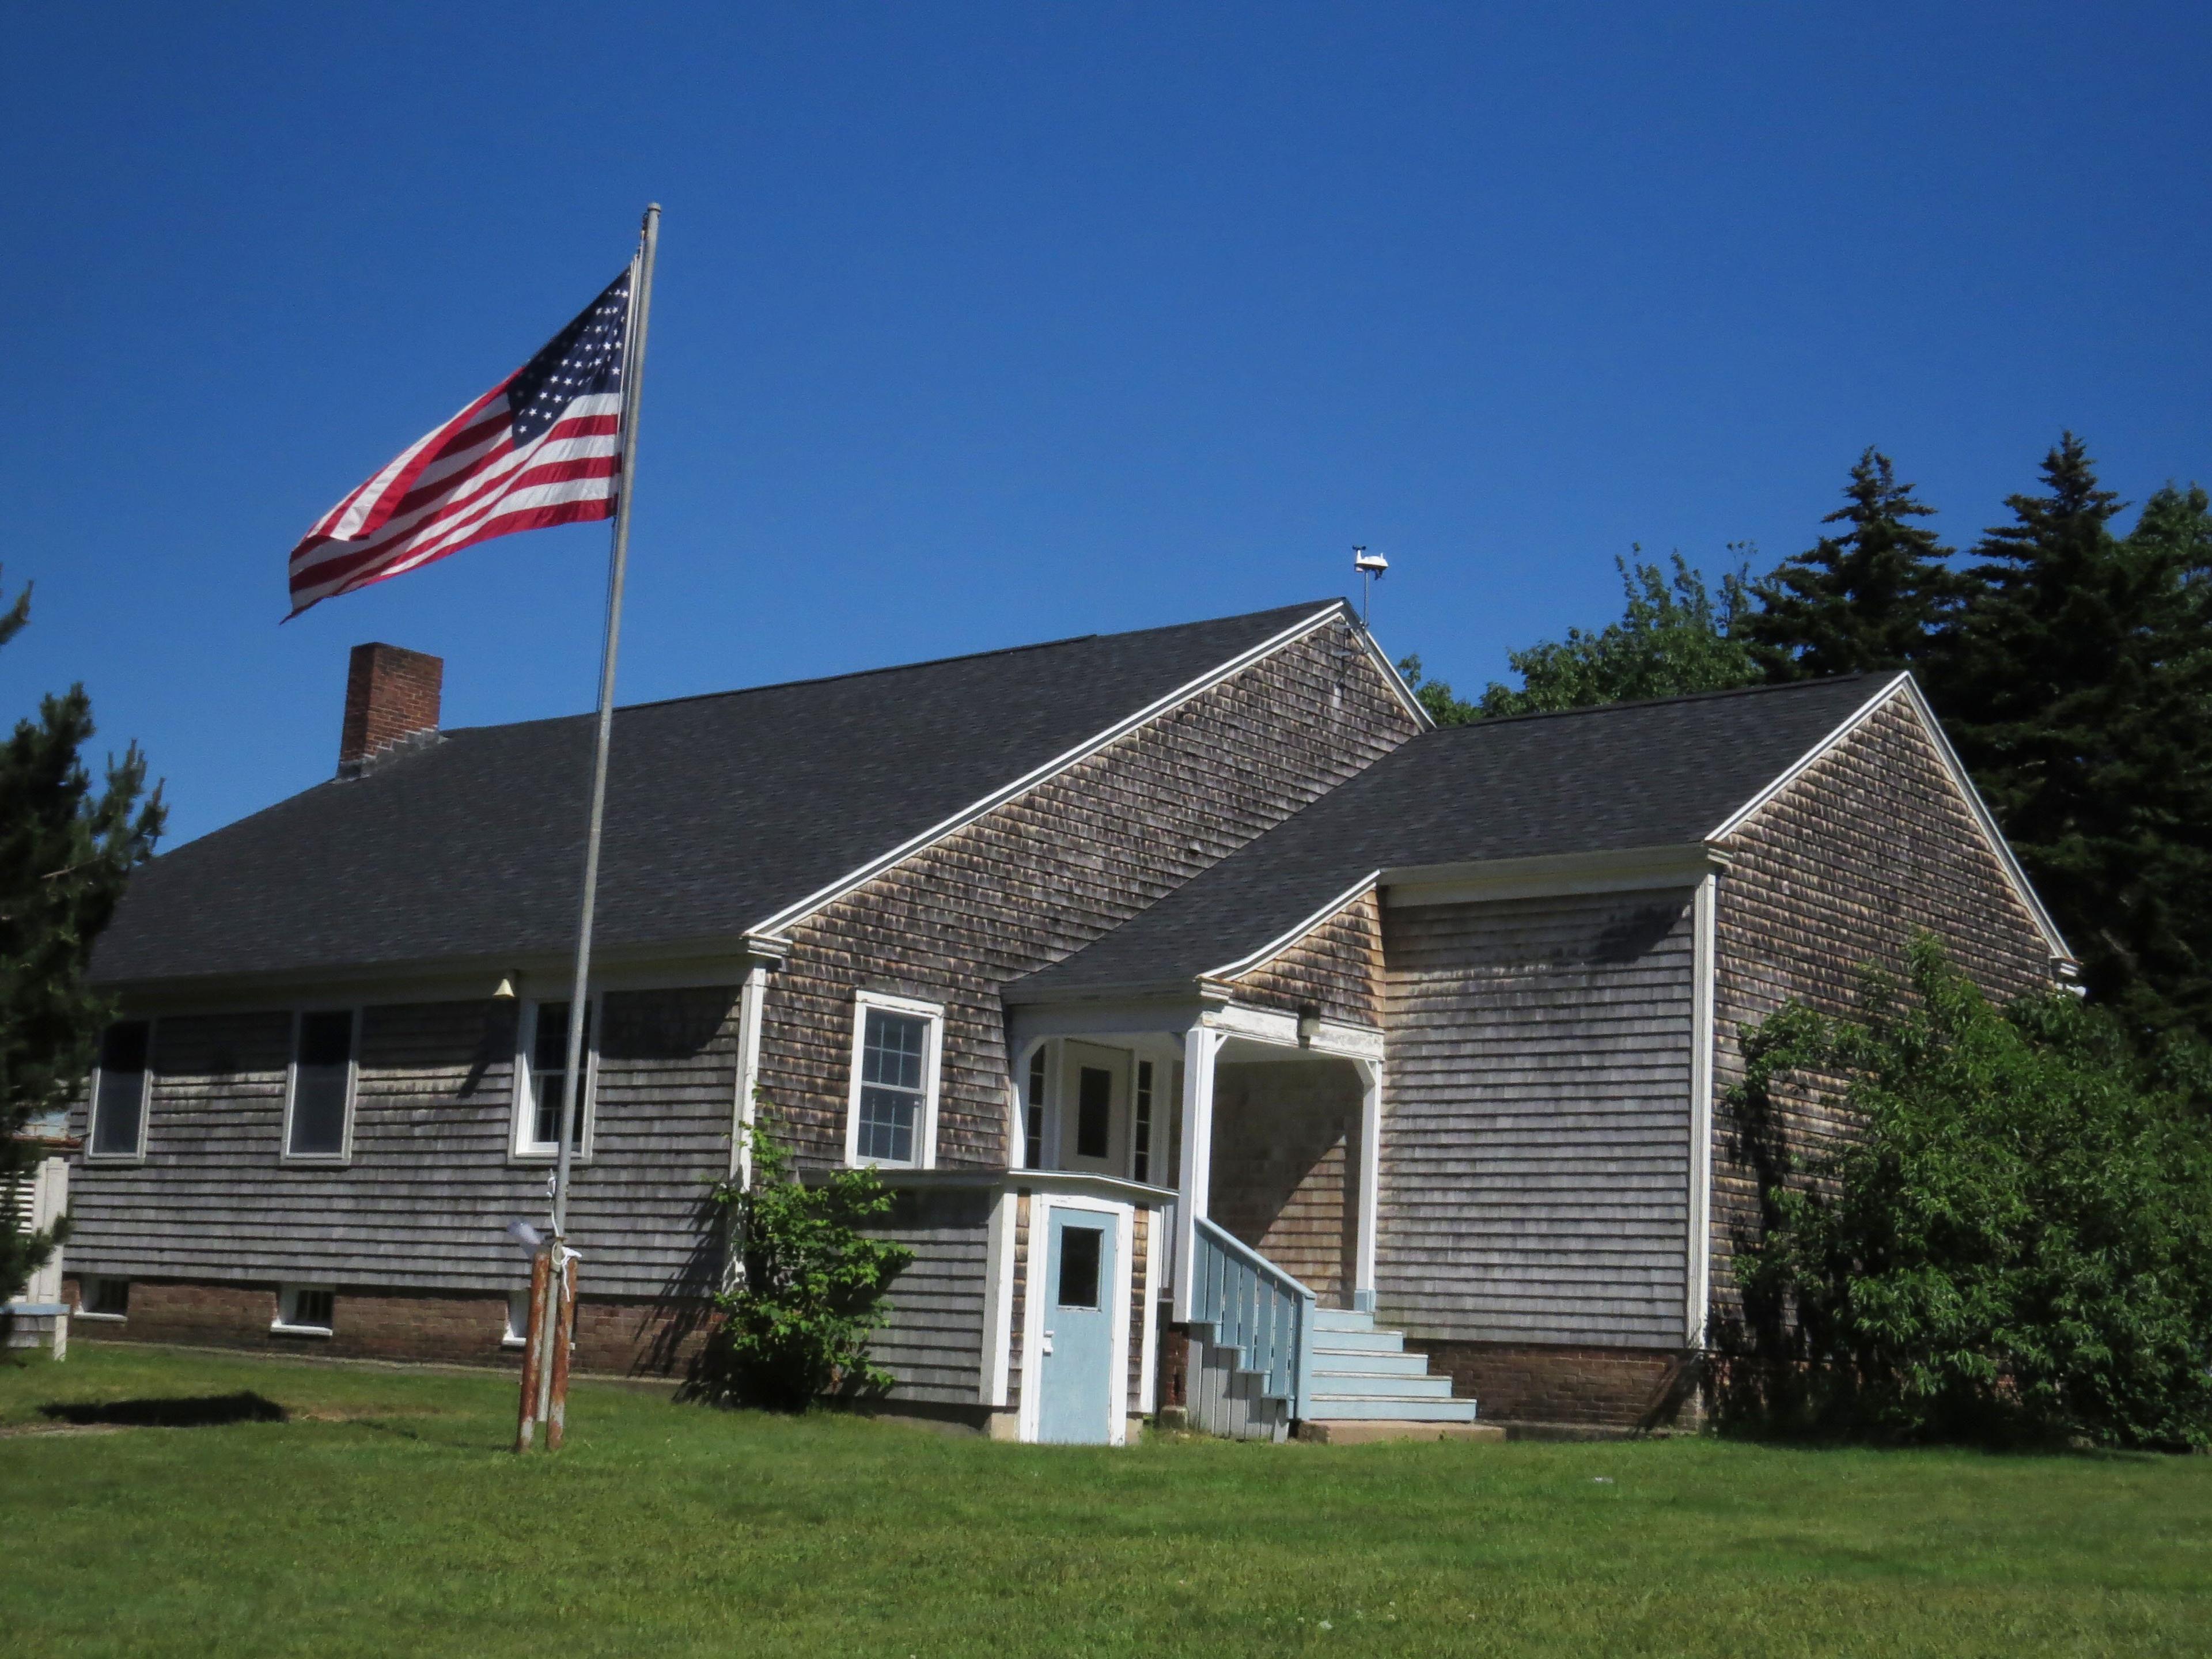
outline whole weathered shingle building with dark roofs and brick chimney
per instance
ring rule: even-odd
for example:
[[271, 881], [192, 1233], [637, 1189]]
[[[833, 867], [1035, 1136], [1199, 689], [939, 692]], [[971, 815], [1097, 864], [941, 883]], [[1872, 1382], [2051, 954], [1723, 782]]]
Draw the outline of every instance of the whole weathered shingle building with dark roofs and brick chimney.
[[[591, 721], [343, 730], [100, 945], [82, 1336], [518, 1340]], [[1042, 1440], [1694, 1409], [1743, 1022], [2070, 967], [1905, 675], [1431, 730], [1338, 602], [626, 708], [604, 869], [580, 1363], [681, 1365], [759, 1115], [900, 1192], [891, 1402]]]

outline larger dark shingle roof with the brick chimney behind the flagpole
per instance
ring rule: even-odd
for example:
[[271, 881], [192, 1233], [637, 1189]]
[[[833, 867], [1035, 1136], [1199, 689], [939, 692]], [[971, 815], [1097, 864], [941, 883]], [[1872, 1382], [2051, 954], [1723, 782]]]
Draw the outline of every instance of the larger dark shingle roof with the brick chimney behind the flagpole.
[[[1332, 604], [622, 708], [595, 942], [734, 938]], [[573, 949], [591, 737], [451, 730], [177, 847], [93, 978]]]

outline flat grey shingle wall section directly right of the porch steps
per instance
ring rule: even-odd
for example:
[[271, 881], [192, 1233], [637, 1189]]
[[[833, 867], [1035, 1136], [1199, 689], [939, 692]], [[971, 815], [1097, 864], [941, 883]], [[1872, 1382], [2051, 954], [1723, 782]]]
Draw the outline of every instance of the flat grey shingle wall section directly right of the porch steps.
[[1383, 911], [1376, 1303], [1409, 1338], [1674, 1347], [1690, 896]]

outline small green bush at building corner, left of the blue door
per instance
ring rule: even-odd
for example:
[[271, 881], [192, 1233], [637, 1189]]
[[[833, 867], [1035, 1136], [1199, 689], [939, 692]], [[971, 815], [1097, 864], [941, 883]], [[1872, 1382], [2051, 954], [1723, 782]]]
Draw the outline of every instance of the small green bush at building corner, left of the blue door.
[[867, 1360], [889, 1312], [883, 1292], [914, 1261], [860, 1223], [891, 1210], [874, 1170], [801, 1183], [765, 1130], [752, 1130], [752, 1186], [726, 1181], [739, 1272], [714, 1298], [721, 1323], [692, 1371], [690, 1394], [723, 1405], [805, 1411], [825, 1396], [880, 1394], [891, 1376]]

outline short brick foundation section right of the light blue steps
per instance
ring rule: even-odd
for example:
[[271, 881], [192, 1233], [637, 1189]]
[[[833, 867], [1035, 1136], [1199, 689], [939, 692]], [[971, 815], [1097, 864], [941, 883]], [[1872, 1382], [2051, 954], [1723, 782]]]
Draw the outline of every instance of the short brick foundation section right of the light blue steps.
[[1694, 1356], [1641, 1347], [1438, 1343], [1407, 1336], [1451, 1391], [1482, 1402], [1486, 1422], [1590, 1429], [1692, 1429], [1703, 1422]]

